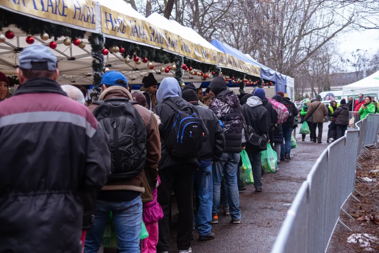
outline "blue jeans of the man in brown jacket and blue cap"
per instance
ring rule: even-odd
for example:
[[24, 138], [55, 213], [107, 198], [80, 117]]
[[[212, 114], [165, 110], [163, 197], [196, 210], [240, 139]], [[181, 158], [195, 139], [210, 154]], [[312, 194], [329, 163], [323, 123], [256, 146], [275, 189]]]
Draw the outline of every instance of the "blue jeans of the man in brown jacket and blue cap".
[[112, 211], [120, 253], [140, 253], [139, 234], [142, 223], [141, 195], [132, 201], [109, 202], [96, 200], [95, 223], [86, 234], [84, 252], [97, 253], [102, 243], [105, 223]]

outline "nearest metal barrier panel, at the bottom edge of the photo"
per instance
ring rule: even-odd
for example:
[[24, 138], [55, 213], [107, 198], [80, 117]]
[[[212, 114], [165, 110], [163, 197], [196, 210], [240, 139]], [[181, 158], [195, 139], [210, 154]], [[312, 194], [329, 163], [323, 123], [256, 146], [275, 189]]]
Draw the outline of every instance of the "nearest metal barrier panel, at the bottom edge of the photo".
[[303, 182], [280, 228], [271, 253], [309, 251], [309, 183]]

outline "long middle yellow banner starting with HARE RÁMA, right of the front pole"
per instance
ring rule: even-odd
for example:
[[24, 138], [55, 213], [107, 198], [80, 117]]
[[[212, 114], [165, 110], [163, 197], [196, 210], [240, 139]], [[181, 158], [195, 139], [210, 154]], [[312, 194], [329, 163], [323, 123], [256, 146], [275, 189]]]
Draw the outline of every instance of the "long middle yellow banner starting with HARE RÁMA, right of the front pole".
[[200, 62], [217, 65], [215, 50], [194, 44], [149, 22], [118, 13], [105, 6], [100, 6], [100, 9], [102, 32], [105, 34], [163, 48]]

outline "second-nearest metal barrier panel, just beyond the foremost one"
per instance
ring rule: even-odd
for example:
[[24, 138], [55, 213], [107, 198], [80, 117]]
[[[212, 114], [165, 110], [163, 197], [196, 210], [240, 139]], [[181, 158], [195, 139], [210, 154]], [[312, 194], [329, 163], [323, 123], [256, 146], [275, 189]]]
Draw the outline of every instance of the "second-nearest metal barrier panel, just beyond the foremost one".
[[309, 253], [324, 252], [329, 238], [325, 236], [327, 149], [321, 153], [309, 172]]

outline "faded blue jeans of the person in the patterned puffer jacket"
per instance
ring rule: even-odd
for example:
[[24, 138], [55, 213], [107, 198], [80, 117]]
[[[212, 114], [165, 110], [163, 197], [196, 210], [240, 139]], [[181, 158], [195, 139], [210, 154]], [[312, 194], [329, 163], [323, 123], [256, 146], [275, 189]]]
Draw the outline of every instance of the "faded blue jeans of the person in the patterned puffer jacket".
[[237, 166], [240, 153], [223, 153], [218, 162], [213, 163], [213, 208], [212, 214], [218, 213], [220, 208], [220, 192], [222, 172], [224, 172], [228, 187], [229, 212], [233, 220], [241, 219], [240, 196], [238, 195]]

